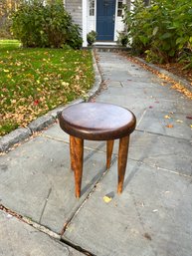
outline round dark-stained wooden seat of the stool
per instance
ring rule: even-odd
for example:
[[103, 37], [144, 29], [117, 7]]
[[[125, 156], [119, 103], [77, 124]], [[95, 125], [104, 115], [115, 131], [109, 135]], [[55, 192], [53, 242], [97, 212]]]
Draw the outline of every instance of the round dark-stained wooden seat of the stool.
[[67, 133], [91, 140], [120, 138], [131, 133], [135, 124], [130, 111], [104, 103], [73, 105], [60, 117], [60, 126]]

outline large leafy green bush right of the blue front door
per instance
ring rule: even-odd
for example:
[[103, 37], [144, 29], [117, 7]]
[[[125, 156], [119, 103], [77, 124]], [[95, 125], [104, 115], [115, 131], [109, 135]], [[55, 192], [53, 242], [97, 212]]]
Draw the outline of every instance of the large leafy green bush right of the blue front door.
[[[134, 52], [153, 62], [191, 62], [191, 0], [153, 0], [148, 7], [142, 0], [133, 4], [133, 11], [125, 9], [124, 22]], [[182, 54], [184, 49], [188, 54]]]

